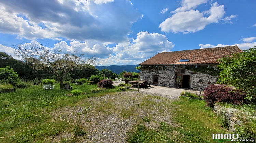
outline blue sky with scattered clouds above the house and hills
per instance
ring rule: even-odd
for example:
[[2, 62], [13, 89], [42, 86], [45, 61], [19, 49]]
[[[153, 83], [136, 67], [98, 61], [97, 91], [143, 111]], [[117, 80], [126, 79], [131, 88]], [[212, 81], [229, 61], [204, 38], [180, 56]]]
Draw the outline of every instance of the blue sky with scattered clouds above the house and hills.
[[140, 64], [159, 52], [256, 46], [254, 0], [1, 0], [0, 51], [42, 43], [97, 57], [98, 65]]

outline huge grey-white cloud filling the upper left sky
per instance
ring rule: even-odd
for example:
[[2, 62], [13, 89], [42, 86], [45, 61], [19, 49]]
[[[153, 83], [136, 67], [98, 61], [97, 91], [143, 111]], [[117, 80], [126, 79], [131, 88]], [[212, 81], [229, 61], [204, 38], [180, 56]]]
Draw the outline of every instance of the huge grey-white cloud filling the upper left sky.
[[1, 1], [0, 28], [26, 39], [121, 42], [139, 18], [128, 0]]

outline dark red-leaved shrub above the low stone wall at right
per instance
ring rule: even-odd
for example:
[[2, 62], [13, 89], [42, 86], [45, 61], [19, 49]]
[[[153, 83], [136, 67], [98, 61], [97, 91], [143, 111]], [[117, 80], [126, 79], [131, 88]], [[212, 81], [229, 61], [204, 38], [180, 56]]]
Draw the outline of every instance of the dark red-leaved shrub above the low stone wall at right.
[[208, 106], [213, 107], [216, 102], [242, 104], [246, 94], [241, 90], [232, 89], [226, 85], [211, 85], [204, 90], [203, 98]]

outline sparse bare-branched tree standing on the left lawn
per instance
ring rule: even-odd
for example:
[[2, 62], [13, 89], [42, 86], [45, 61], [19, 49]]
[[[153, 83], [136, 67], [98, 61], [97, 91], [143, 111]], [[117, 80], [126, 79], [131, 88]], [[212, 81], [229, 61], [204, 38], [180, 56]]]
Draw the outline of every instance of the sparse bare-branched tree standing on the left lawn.
[[38, 43], [15, 45], [15, 54], [35, 70], [45, 69], [56, 75], [63, 89], [63, 79], [73, 68], [81, 64], [91, 64], [95, 58], [85, 58], [83, 54], [62, 49], [50, 49]]

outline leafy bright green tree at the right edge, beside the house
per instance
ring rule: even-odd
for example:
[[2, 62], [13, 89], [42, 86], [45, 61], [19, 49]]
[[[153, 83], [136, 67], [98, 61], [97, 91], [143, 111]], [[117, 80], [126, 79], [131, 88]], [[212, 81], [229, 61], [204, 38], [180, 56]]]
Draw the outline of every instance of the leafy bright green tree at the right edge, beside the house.
[[[256, 47], [256, 46], [255, 46]], [[234, 85], [247, 93], [247, 99], [256, 97], [256, 48], [244, 50], [219, 59], [220, 82]]]

